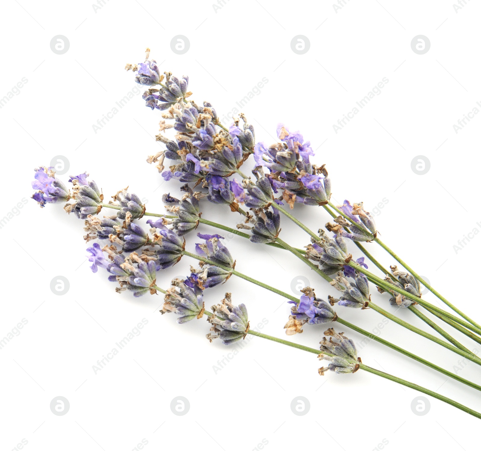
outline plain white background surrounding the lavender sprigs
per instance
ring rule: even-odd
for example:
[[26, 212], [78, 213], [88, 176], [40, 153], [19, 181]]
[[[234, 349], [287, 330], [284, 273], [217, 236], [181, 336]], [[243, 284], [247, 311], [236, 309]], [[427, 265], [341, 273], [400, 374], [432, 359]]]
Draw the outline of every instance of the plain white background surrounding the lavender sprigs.
[[[89, 1], [3, 1], [0, 97], [23, 77], [28, 81], [0, 109], [0, 216], [22, 199], [28, 202], [0, 230], [0, 337], [22, 318], [28, 323], [0, 350], [1, 449], [13, 450], [22, 439], [28, 450], [127, 451], [142, 439], [148, 441], [145, 449], [255, 450], [263, 439], [267, 450], [375, 450], [383, 440], [388, 442], [383, 449], [392, 451], [428, 445], [477, 449], [474, 417], [432, 398], [428, 414], [417, 416], [411, 402], [419, 393], [411, 389], [362, 371], [320, 377], [315, 355], [262, 339], [253, 338], [215, 372], [229, 349], [209, 344], [207, 324], [180, 326], [174, 315], [161, 316], [161, 296], [116, 294], [105, 272], [93, 275], [89, 269], [82, 221], [60, 205], [40, 210], [30, 199], [30, 182], [33, 168], [61, 155], [70, 167], [63, 180], [87, 171], [107, 199], [129, 185], [148, 199], [148, 211], [162, 212], [161, 195], [179, 194], [179, 184], [162, 185], [145, 162], [160, 148], [153, 139], [159, 112], [146, 108], [139, 94], [98, 133], [92, 128], [136, 86], [126, 62], [142, 62], [145, 47], [151, 47], [162, 71], [188, 74], [192, 99], [212, 102], [220, 115], [266, 77], [260, 94], [243, 108], [256, 139], [272, 142], [278, 122], [299, 129], [316, 149], [314, 161], [327, 164], [334, 201], [362, 200], [372, 211], [388, 199], [376, 216], [381, 239], [479, 319], [481, 238], [457, 253], [453, 249], [474, 227], [481, 230], [476, 225], [481, 115], [459, 133], [453, 129], [481, 101], [479, 14], [474, 1], [457, 13], [450, 1], [353, 0], [337, 13], [330, 2], [318, 1], [226, 0], [217, 11], [209, 1], [106, 1], [97, 11]], [[190, 40], [183, 55], [170, 47], [179, 34]], [[420, 34], [430, 40], [422, 55], [411, 49]], [[62, 55], [50, 48], [56, 35], [70, 42]], [[307, 53], [291, 50], [296, 35], [310, 40]], [[335, 133], [333, 124], [384, 77], [389, 82], [381, 93]], [[430, 160], [425, 175], [411, 169], [418, 155]], [[313, 229], [329, 219], [315, 207], [296, 206], [295, 213]], [[239, 220], [207, 202], [203, 217], [229, 226]], [[285, 218], [281, 236], [298, 247], [309, 242]], [[195, 236], [187, 241], [193, 250]], [[374, 243], [367, 246], [384, 265], [394, 263]], [[281, 290], [292, 293], [291, 281], [304, 276], [318, 296], [336, 294], [286, 252], [241, 238], [228, 239], [228, 247], [236, 269]], [[160, 273], [157, 284], [167, 287], [171, 278], [186, 275], [191, 263], [184, 257]], [[70, 283], [62, 296], [50, 289], [59, 275]], [[247, 305], [252, 325], [265, 318], [263, 332], [285, 337], [289, 306], [282, 298], [232, 277], [206, 293], [206, 305], [220, 301], [225, 291]], [[374, 299], [394, 311], [387, 296], [375, 293]], [[425, 299], [437, 302], [430, 293]], [[371, 310], [337, 310], [368, 331], [381, 321]], [[409, 311], [396, 314], [425, 327]], [[141, 334], [95, 374], [96, 361], [142, 318], [148, 324]], [[292, 340], [317, 347], [325, 328], [304, 329]], [[380, 334], [451, 371], [464, 366], [459, 356], [391, 321]], [[348, 336], [361, 340], [356, 333]], [[368, 365], [481, 411], [474, 389], [382, 345], [371, 342], [359, 355]], [[480, 383], [479, 372], [469, 363], [460, 375]], [[70, 402], [64, 416], [49, 407], [58, 396]], [[185, 416], [170, 410], [178, 396], [190, 401]], [[304, 416], [290, 408], [298, 396], [310, 401]]]

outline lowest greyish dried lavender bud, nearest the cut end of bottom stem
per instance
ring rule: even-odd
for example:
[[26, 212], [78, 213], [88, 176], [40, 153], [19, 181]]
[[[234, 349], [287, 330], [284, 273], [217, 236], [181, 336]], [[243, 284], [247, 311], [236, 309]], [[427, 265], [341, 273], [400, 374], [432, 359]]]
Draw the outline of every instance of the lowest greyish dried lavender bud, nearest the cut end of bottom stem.
[[[327, 369], [330, 371], [335, 371], [337, 373], [354, 373], [359, 369], [358, 361], [360, 359], [357, 357], [357, 351], [354, 342], [347, 337], [344, 337], [342, 333], [336, 333], [334, 329], [328, 329], [324, 332], [324, 335], [330, 336], [329, 341], [326, 337], [323, 337], [320, 342], [320, 349], [323, 352], [328, 352], [329, 354], [334, 354], [334, 356], [328, 356], [326, 354], [319, 354], [319, 360], [329, 360], [329, 366]], [[336, 338], [338, 341], [334, 341], [332, 337]], [[319, 368], [319, 374], [324, 375], [326, 368]]]

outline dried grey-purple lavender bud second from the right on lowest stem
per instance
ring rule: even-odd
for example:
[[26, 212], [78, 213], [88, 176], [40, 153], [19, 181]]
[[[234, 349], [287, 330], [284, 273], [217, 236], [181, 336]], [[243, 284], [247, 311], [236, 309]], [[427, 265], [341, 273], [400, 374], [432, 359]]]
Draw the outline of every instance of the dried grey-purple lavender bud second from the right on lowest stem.
[[224, 345], [231, 345], [246, 337], [249, 331], [247, 308], [244, 304], [232, 305], [230, 293], [226, 293], [222, 304], [212, 306], [213, 315], [209, 322], [213, 325], [207, 339], [212, 343], [215, 338], [220, 338]]

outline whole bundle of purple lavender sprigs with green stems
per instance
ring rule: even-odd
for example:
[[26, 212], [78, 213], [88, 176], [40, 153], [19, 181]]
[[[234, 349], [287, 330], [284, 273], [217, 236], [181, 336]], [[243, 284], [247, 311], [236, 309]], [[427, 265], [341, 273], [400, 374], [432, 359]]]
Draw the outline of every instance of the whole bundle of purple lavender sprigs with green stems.
[[[331, 180], [326, 166], [311, 163], [314, 152], [301, 133], [291, 132], [286, 125], [279, 124], [278, 142], [269, 145], [256, 141], [254, 128], [243, 114], [225, 127], [212, 104], [201, 105], [191, 99], [187, 76], [177, 78], [171, 72], [161, 73], [155, 60], [149, 59], [149, 52], [147, 49], [145, 62], [127, 64], [126, 69], [132, 70], [135, 81], [146, 88], [142, 96], [146, 106], [161, 117], [161, 133], [156, 140], [164, 148], [149, 156], [147, 162], [156, 165], [165, 181], [180, 183], [184, 193], [180, 199], [170, 193], [163, 195], [167, 214], [146, 211], [141, 197], [127, 188], [106, 201], [102, 187], [91, 180], [87, 172], [70, 176], [68, 182], [63, 182], [55, 176], [52, 167], [35, 170], [32, 187], [36, 192], [32, 198], [40, 207], [63, 204], [67, 213], [85, 223], [84, 239], [89, 242], [87, 251], [92, 271], [95, 273], [99, 268], [101, 272], [106, 271], [108, 280], [116, 283], [117, 292], [131, 292], [135, 297], [163, 293], [165, 302], [161, 313], [178, 315], [179, 324], [207, 320], [206, 338], [211, 342], [219, 339], [224, 345], [231, 345], [252, 334], [315, 354], [326, 361], [318, 370], [320, 375], [328, 371], [367, 371], [481, 418], [481, 413], [453, 399], [367, 366], [358, 357], [354, 341], [336, 332], [336, 323], [476, 390], [481, 390], [481, 386], [363, 330], [343, 319], [342, 314], [344, 308], [356, 308], [360, 315], [363, 310], [373, 309], [407, 331], [478, 365], [481, 358], [469, 350], [469, 344], [471, 340], [481, 344], [481, 326], [434, 290], [380, 240], [373, 216], [365, 211], [362, 202], [344, 200], [338, 206], [330, 202]], [[166, 160], [170, 163], [167, 168]], [[245, 173], [249, 172], [247, 166], [252, 168], [250, 173]], [[236, 228], [215, 223], [202, 215], [205, 202], [223, 205], [224, 210], [228, 206], [230, 214], [226, 213], [225, 222], [232, 223], [233, 219]], [[295, 213], [319, 207], [332, 216], [332, 222], [316, 232], [305, 226]], [[303, 249], [288, 243], [289, 237], [281, 231], [281, 218], [302, 229], [299, 232], [305, 236]], [[212, 234], [196, 233], [201, 223], [211, 227]], [[302, 295], [296, 297], [242, 274], [235, 269], [236, 260], [241, 256], [236, 255], [234, 259], [223, 244], [224, 232], [241, 237], [246, 245], [266, 244], [283, 249], [285, 258], [297, 258], [306, 265], [306, 270], [316, 273], [316, 287], [305, 287]], [[195, 241], [196, 253], [186, 251], [189, 239]], [[353, 247], [352, 243], [357, 247], [354, 256], [348, 250]], [[389, 270], [368, 251], [376, 245], [390, 255], [393, 265]], [[183, 256], [197, 261], [198, 267], [191, 266], [190, 274], [173, 279], [170, 286], [158, 286], [159, 273], [176, 265]], [[370, 267], [374, 265], [374, 271], [367, 263]], [[322, 335], [320, 347], [300, 345], [250, 329], [247, 306], [235, 304], [235, 296], [232, 298], [228, 292], [220, 304], [208, 310], [205, 301], [212, 302], [209, 288], [228, 283], [232, 276], [285, 298], [291, 304], [284, 325], [286, 334], [292, 336], [303, 332], [304, 327], [318, 327]], [[318, 297], [326, 283], [339, 291], [338, 297], [328, 296], [325, 300]], [[446, 309], [422, 299], [421, 284], [441, 300]], [[385, 293], [390, 306], [384, 309], [371, 300], [373, 288]], [[391, 313], [392, 306], [410, 310], [413, 320], [414, 317], [421, 319], [442, 338], [398, 318]], [[461, 332], [469, 344], [463, 345], [453, 338], [446, 331], [447, 326]]]

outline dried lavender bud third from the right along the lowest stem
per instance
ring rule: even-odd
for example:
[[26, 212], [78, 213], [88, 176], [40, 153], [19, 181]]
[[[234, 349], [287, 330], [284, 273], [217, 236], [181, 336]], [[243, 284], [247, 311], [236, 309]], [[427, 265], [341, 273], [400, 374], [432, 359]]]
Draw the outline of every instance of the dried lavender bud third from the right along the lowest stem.
[[167, 290], [162, 305], [162, 314], [175, 312], [180, 315], [177, 323], [183, 324], [194, 318], [200, 319], [204, 313], [202, 290], [196, 286], [189, 287], [180, 279], [172, 280], [172, 287]]

